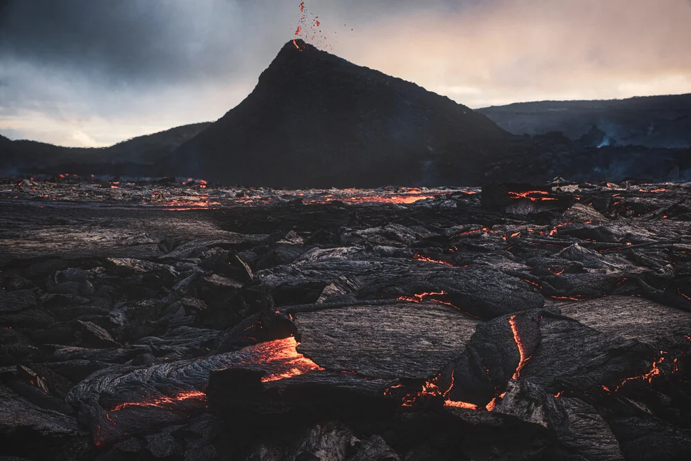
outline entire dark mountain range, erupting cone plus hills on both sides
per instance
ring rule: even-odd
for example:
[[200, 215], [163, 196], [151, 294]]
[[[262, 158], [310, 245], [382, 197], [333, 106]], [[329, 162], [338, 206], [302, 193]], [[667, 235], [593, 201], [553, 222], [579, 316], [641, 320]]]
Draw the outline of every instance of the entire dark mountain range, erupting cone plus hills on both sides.
[[691, 149], [670, 149], [691, 144], [690, 107], [691, 95], [678, 95], [472, 111], [296, 39], [216, 122], [102, 149], [0, 136], [0, 176], [182, 176], [276, 188], [691, 180]]

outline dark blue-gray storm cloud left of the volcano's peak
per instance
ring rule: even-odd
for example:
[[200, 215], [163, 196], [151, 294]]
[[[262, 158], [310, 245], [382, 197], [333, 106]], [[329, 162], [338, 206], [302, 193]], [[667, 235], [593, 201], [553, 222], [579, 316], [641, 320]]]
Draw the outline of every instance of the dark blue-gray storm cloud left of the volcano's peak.
[[232, 75], [247, 62], [235, 43], [249, 38], [248, 12], [245, 2], [15, 0], [2, 10], [0, 54], [114, 84]]

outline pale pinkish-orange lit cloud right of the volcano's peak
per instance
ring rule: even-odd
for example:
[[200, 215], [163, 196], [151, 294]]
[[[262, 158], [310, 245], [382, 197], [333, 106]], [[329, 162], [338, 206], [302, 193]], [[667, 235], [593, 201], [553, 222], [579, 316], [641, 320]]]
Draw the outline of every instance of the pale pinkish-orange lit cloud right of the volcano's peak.
[[687, 1], [503, 1], [444, 17], [402, 12], [368, 26], [343, 53], [471, 106], [683, 93], [691, 91], [689, 21]]

